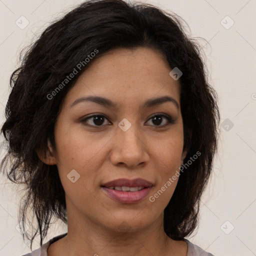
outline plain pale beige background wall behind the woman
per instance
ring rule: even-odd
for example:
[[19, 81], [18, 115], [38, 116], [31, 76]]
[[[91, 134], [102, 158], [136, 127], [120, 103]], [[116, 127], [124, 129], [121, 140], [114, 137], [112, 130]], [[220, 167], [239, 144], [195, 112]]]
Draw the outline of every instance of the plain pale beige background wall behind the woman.
[[[51, 20], [80, 0], [0, 0], [0, 121], [18, 53]], [[221, 137], [214, 173], [204, 193], [200, 223], [188, 239], [215, 256], [256, 255], [256, 1], [151, 0], [188, 23], [206, 53], [210, 83], [219, 95]], [[22, 18], [23, 26], [16, 20]], [[228, 17], [227, 17], [228, 16]], [[27, 21], [26, 21], [27, 20]], [[21, 29], [22, 28], [22, 29]], [[232, 126], [233, 125], [233, 126]], [[0, 142], [2, 138], [0, 138]], [[4, 154], [1, 144], [0, 156]], [[16, 228], [20, 192], [0, 178], [0, 255], [29, 252]], [[53, 225], [44, 242], [66, 228]], [[37, 240], [38, 241], [38, 240]], [[38, 247], [35, 242], [34, 247]]]

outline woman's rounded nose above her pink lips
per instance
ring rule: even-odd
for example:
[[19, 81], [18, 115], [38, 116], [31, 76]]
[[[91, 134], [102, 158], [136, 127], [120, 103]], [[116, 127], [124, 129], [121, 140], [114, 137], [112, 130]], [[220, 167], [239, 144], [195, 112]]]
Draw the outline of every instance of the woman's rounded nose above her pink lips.
[[110, 154], [112, 164], [134, 168], [148, 162], [149, 155], [145, 136], [142, 136], [135, 126], [131, 125], [126, 131], [117, 128]]

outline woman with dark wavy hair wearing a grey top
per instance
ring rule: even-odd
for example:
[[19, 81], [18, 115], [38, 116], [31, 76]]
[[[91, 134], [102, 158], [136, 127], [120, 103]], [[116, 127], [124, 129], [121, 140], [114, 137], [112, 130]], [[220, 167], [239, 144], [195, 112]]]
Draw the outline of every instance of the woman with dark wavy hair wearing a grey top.
[[[26, 255], [212, 255], [185, 238], [217, 147], [206, 73], [181, 18], [149, 4], [86, 1], [45, 29], [1, 128], [23, 238], [40, 235]], [[53, 217], [67, 233], [43, 243]]]

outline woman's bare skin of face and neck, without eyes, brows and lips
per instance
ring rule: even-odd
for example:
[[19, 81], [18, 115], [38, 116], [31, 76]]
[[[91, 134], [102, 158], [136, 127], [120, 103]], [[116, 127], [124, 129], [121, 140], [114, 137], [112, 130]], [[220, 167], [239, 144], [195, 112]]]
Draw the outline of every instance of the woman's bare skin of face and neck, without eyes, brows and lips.
[[[154, 195], [172, 177], [186, 152], [180, 85], [170, 77], [171, 68], [160, 52], [149, 47], [117, 48], [90, 63], [63, 100], [55, 124], [56, 150], [40, 159], [56, 164], [65, 190], [68, 234], [52, 243], [48, 255], [186, 255], [185, 241], [170, 239], [163, 230], [163, 210], [177, 179], [154, 202]], [[81, 96], [98, 95], [116, 103], [106, 107], [95, 102], [70, 104]], [[168, 95], [178, 103], [141, 107], [147, 99]], [[163, 113], [157, 125], [151, 117]], [[102, 125], [92, 114], [107, 119]], [[123, 131], [118, 123], [131, 126]], [[87, 124], [87, 125], [86, 125]], [[89, 126], [94, 125], [94, 126]], [[67, 174], [75, 169], [80, 178], [72, 183]], [[144, 178], [153, 187], [138, 203], [119, 203], [101, 185], [116, 178]], [[124, 224], [125, 222], [125, 224]], [[121, 226], [128, 230], [120, 230]]]

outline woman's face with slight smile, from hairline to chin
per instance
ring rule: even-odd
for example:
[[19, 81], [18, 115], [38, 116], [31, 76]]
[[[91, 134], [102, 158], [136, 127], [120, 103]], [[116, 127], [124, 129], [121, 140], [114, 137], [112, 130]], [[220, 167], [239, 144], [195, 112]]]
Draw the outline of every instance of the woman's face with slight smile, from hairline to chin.
[[[185, 156], [180, 85], [170, 70], [156, 50], [118, 48], [93, 60], [68, 91], [48, 164], [57, 165], [69, 218], [116, 231], [162, 216]], [[118, 190], [127, 187], [139, 191]]]

